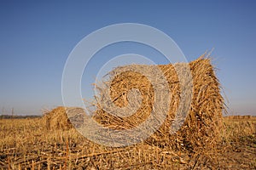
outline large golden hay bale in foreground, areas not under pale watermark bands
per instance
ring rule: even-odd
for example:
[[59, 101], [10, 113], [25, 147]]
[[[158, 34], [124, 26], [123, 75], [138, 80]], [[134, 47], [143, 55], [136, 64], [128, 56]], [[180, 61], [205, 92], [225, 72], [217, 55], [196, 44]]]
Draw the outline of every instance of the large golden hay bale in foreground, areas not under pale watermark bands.
[[[185, 64], [177, 63], [175, 65], [182, 67]], [[172, 147], [176, 150], [195, 151], [214, 147], [220, 139], [224, 99], [220, 94], [220, 84], [215, 76], [211, 60], [201, 57], [189, 63], [193, 78], [193, 97], [189, 114], [183, 126], [175, 134], [170, 134], [169, 131], [180, 100], [179, 80], [172, 64], [159, 65], [159, 68], [169, 84], [172, 100], [166, 121], [146, 142], [161, 147]], [[108, 114], [98, 105], [94, 119], [102, 126], [114, 129], [137, 127], [147, 119], [152, 111], [154, 105], [152, 84], [147, 77], [132, 71], [125, 71], [112, 77], [111, 80], [105, 83], [110, 83], [110, 96], [114, 105], [119, 107], [127, 105], [127, 94], [132, 88], [139, 89], [142, 94], [142, 105], [136, 113], [127, 117]]]

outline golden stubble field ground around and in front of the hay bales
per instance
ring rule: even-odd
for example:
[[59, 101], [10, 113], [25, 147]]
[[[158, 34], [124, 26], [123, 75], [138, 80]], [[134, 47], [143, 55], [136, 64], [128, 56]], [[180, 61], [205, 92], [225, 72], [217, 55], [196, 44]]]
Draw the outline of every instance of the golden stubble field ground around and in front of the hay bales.
[[[140, 143], [109, 148], [41, 118], [0, 119], [0, 169], [256, 169], [256, 116], [226, 116], [212, 150]], [[211, 141], [209, 141], [211, 142]]]

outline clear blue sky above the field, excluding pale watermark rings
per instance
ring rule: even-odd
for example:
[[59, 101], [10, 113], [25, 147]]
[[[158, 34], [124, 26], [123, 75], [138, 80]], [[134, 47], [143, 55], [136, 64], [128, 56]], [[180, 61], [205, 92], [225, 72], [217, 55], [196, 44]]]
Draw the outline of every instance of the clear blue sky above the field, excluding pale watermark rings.
[[[212, 63], [230, 113], [256, 115], [255, 8], [253, 0], [1, 1], [0, 109], [31, 115], [62, 105], [62, 71], [76, 44], [104, 26], [129, 22], [164, 31], [189, 61], [214, 48]], [[84, 96], [103, 65], [101, 56], [122, 53], [166, 64], [154, 50], [132, 43], [102, 49], [84, 74]]]

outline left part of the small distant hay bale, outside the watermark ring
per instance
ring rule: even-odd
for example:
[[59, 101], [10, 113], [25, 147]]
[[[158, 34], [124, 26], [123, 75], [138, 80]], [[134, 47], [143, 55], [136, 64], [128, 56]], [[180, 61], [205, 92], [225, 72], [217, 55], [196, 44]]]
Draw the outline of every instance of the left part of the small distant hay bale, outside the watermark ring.
[[73, 128], [67, 117], [65, 107], [56, 107], [52, 111], [46, 112], [43, 117], [45, 127], [48, 130], [68, 130]]

